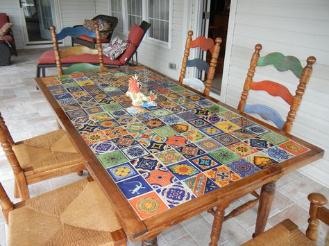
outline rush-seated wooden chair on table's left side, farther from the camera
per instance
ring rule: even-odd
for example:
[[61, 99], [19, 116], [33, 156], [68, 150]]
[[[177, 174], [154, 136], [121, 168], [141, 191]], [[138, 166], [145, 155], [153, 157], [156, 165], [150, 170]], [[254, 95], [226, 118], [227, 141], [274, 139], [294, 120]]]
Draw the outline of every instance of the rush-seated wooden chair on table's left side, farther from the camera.
[[83, 174], [85, 164], [64, 130], [15, 143], [0, 114], [0, 143], [15, 176], [16, 198], [30, 197], [28, 185], [67, 175]]

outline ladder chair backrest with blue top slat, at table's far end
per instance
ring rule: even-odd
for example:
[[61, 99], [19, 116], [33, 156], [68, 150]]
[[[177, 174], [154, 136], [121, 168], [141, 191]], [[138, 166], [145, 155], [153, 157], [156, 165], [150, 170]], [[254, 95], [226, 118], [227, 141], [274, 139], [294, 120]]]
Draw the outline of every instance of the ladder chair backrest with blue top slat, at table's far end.
[[[95, 32], [88, 30], [83, 26], [76, 27], [66, 27], [63, 28], [60, 33], [56, 33], [55, 26], [51, 26], [51, 35], [53, 39], [53, 51], [55, 52], [56, 67], [58, 75], [62, 76], [63, 74], [69, 74], [74, 72], [82, 71], [106, 71], [103, 63], [103, 52], [101, 47], [101, 33], [99, 32], [98, 24], [94, 24]], [[96, 37], [97, 49], [90, 49], [86, 46], [74, 46], [63, 51], [59, 50], [58, 40], [65, 39], [65, 37], [79, 37], [81, 35], [87, 35], [89, 37]], [[99, 66], [94, 66], [89, 63], [78, 63], [71, 65], [68, 69], [63, 71], [61, 58], [68, 58], [71, 55], [98, 55], [99, 57]]]

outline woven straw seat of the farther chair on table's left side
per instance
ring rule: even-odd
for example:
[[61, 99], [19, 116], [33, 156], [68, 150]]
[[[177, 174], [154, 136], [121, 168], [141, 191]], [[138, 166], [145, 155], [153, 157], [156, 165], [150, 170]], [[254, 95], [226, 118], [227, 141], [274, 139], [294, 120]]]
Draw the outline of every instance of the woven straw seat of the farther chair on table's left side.
[[26, 139], [12, 150], [26, 175], [83, 162], [64, 130]]

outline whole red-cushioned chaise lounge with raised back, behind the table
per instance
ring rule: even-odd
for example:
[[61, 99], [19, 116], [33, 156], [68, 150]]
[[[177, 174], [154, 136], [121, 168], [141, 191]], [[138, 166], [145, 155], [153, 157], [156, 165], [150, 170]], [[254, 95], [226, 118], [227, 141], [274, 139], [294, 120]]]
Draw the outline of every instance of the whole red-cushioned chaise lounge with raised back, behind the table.
[[[149, 29], [151, 24], [147, 23], [146, 21], [142, 21], [140, 26], [136, 24], [130, 28], [130, 32], [128, 33], [128, 40], [130, 42], [128, 48], [124, 53], [122, 53], [119, 58], [116, 60], [110, 60], [106, 55], [103, 55], [103, 62], [106, 67], [121, 67], [126, 65], [134, 65], [129, 64], [130, 60], [133, 58], [133, 55], [136, 54], [137, 60], [137, 48], [140, 46], [140, 42]], [[97, 55], [72, 55], [69, 58], [61, 59], [62, 67], [69, 67], [71, 64], [75, 63], [90, 63], [90, 64], [99, 64], [99, 58]], [[46, 51], [44, 52], [40, 58], [37, 60], [37, 78], [46, 76], [46, 69], [48, 67], [56, 67], [56, 60], [55, 60], [55, 53], [53, 51]]]

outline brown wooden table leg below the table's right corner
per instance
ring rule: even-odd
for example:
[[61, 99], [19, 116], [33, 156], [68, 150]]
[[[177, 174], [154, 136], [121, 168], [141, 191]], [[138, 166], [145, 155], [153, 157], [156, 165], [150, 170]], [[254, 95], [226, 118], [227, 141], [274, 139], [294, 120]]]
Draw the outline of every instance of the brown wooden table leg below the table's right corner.
[[262, 186], [262, 190], [260, 191], [260, 204], [258, 205], [256, 228], [253, 237], [264, 232], [275, 191], [276, 182], [269, 182]]

